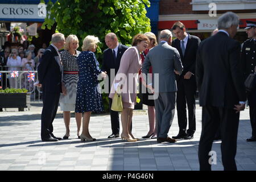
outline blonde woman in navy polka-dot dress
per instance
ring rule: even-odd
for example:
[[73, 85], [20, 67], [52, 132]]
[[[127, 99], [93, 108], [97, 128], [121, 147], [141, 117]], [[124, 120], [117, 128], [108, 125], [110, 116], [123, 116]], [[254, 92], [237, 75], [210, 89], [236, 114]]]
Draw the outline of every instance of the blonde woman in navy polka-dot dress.
[[82, 118], [81, 141], [94, 141], [89, 133], [89, 121], [92, 111], [100, 113], [104, 110], [98, 84], [98, 76], [106, 77], [94, 55], [99, 43], [97, 37], [88, 35], [82, 42], [82, 52], [77, 64], [79, 66], [79, 81], [77, 84], [76, 113], [84, 113]]

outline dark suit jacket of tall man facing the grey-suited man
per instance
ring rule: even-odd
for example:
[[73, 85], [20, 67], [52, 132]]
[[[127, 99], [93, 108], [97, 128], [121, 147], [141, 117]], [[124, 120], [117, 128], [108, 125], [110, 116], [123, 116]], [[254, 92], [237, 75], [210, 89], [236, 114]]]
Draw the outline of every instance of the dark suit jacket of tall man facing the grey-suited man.
[[176, 76], [177, 80], [179, 80], [180, 77], [184, 77], [184, 75], [187, 72], [191, 72], [195, 75], [196, 52], [200, 42], [201, 40], [197, 36], [188, 34], [188, 42], [187, 42], [187, 46], [185, 48], [185, 53], [183, 56], [180, 48], [180, 40], [175, 39], [174, 41], [172, 41], [172, 47], [175, 47], [179, 51], [181, 62], [184, 67], [182, 74], [180, 76]]

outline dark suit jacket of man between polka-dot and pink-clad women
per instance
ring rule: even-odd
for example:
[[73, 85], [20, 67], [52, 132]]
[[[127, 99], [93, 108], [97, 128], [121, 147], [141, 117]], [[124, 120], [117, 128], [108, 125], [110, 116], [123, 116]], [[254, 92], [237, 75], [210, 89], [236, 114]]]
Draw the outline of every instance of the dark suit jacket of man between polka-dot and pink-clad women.
[[[114, 80], [114, 76], [117, 75], [117, 72], [118, 72], [118, 69], [120, 66], [121, 57], [127, 48], [128, 48], [128, 46], [124, 46], [121, 43], [119, 43], [117, 57], [116, 57], [115, 61], [114, 61], [112, 49], [108, 48], [103, 53], [103, 63], [102, 63], [101, 71], [102, 72], [106, 71], [107, 75], [109, 77], [109, 92], [110, 92], [112, 82]], [[110, 79], [111, 78], [110, 77], [110, 69], [115, 69], [112, 79]]]

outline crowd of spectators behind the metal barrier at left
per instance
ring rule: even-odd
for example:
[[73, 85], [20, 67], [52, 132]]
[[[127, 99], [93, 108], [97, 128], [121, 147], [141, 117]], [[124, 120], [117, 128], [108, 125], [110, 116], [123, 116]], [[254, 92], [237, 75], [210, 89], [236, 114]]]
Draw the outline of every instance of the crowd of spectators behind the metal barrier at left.
[[[45, 47], [45, 46], [44, 46]], [[0, 71], [36, 71], [45, 48], [35, 53], [35, 46], [30, 44], [27, 48], [13, 46], [6, 42], [0, 52]], [[2, 88], [19, 88], [18, 77], [11, 77], [11, 73], [2, 74]], [[22, 74], [21, 88], [33, 90], [34, 85], [28, 81], [26, 74]]]

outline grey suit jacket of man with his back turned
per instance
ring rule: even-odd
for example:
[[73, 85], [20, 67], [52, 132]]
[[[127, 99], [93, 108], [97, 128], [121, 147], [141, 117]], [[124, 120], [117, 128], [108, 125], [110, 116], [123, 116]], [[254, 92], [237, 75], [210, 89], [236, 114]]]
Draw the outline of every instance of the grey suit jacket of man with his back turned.
[[[143, 62], [142, 73], [147, 74], [150, 66], [152, 66], [152, 86], [155, 88], [155, 92], [177, 91], [174, 71], [182, 73], [183, 65], [176, 48], [171, 47], [167, 42], [161, 42], [158, 46], [150, 49]], [[155, 73], [159, 74], [157, 83], [154, 81]], [[146, 78], [144, 79], [146, 80]]]

